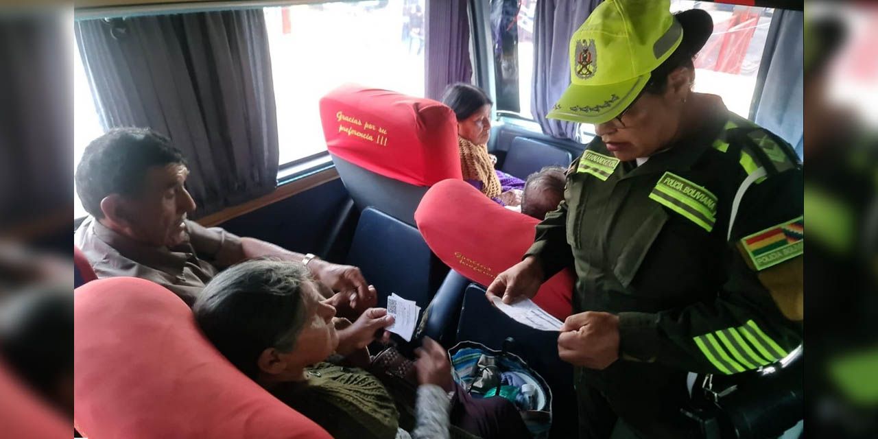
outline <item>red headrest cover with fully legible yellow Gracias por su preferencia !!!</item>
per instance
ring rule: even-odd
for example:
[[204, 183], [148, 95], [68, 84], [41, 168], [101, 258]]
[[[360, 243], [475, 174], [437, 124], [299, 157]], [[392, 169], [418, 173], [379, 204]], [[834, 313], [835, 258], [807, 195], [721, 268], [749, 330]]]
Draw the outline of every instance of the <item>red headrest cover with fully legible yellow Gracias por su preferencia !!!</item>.
[[320, 99], [320, 119], [329, 152], [357, 166], [417, 186], [463, 178], [457, 118], [440, 102], [348, 84]]

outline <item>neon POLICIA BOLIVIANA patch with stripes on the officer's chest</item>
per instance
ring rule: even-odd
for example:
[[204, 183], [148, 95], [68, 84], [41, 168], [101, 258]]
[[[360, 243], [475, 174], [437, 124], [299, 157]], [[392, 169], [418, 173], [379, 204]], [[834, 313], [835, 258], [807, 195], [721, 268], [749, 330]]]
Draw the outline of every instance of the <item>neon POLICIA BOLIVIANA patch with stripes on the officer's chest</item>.
[[708, 232], [716, 224], [716, 195], [672, 172], [659, 178], [650, 199], [680, 213]]

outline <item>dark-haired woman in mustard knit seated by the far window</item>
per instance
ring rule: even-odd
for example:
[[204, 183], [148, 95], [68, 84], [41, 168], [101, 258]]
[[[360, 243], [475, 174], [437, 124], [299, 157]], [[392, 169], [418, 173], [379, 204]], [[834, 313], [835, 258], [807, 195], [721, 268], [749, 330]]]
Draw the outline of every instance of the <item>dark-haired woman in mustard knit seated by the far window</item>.
[[479, 87], [456, 83], [445, 89], [442, 102], [457, 116], [457, 147], [464, 180], [501, 205], [521, 205], [524, 182], [494, 169], [497, 157], [488, 154], [491, 98]]

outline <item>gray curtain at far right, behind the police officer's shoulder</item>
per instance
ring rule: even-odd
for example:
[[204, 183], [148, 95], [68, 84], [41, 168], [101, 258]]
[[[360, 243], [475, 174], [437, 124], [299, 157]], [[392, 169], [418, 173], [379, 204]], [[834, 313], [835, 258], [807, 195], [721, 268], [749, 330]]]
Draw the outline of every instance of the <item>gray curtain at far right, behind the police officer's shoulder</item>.
[[750, 109], [750, 119], [787, 140], [800, 157], [804, 147], [802, 26], [802, 11], [774, 10]]

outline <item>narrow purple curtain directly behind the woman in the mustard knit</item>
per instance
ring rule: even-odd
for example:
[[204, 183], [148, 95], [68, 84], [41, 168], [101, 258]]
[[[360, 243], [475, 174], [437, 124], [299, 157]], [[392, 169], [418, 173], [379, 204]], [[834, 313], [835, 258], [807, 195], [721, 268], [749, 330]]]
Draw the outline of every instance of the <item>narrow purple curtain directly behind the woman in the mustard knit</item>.
[[452, 83], [470, 83], [470, 15], [466, 0], [427, 0], [424, 96], [442, 98]]

